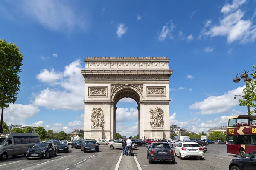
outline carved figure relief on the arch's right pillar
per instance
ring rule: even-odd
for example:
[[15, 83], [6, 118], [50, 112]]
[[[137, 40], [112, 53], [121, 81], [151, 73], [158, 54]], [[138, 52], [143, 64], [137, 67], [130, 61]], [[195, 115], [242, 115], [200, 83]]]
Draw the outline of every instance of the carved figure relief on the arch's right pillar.
[[152, 128], [154, 127], [163, 127], [164, 125], [164, 120], [163, 120], [163, 110], [156, 107], [153, 109], [150, 109], [150, 125]]

